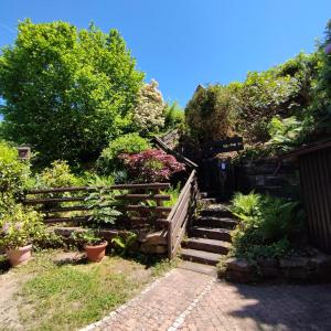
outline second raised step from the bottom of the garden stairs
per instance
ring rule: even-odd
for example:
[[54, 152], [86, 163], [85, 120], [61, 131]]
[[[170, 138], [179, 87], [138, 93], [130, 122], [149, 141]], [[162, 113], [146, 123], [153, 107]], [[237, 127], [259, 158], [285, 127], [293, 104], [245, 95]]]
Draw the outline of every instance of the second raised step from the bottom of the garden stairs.
[[226, 255], [232, 245], [231, 243], [222, 241], [192, 237], [184, 241], [182, 243], [182, 246], [190, 249], [197, 249]]

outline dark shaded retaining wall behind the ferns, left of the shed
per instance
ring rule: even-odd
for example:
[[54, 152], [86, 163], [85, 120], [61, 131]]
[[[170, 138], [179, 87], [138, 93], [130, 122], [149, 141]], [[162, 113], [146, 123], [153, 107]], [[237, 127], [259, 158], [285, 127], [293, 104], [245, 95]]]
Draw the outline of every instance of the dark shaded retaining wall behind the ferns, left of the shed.
[[293, 196], [299, 193], [298, 164], [277, 159], [243, 161], [235, 166], [236, 190], [268, 193], [274, 196]]

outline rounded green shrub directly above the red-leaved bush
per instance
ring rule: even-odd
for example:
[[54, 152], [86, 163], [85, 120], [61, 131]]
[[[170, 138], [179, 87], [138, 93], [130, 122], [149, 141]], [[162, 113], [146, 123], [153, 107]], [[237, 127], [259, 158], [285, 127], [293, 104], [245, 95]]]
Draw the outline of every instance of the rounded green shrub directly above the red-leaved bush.
[[138, 134], [128, 134], [113, 140], [105, 148], [97, 160], [97, 168], [102, 173], [110, 174], [116, 169], [122, 168], [120, 154], [138, 153], [150, 148], [148, 140], [140, 137]]

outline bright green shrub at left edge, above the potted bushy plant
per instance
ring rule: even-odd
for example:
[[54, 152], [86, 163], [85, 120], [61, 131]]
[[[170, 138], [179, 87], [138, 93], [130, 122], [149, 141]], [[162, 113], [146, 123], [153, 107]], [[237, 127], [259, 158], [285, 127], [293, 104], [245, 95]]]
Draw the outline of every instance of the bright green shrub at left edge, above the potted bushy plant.
[[17, 149], [0, 142], [0, 206], [21, 197], [29, 175], [29, 162], [20, 161]]

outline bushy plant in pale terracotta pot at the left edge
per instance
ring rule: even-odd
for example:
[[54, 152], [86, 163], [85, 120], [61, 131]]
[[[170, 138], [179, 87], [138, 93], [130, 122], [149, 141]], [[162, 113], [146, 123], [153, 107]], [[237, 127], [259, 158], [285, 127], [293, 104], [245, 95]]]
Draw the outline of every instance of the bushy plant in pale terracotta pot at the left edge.
[[15, 267], [31, 258], [32, 244], [45, 234], [42, 215], [22, 204], [12, 204], [0, 212], [0, 246]]

